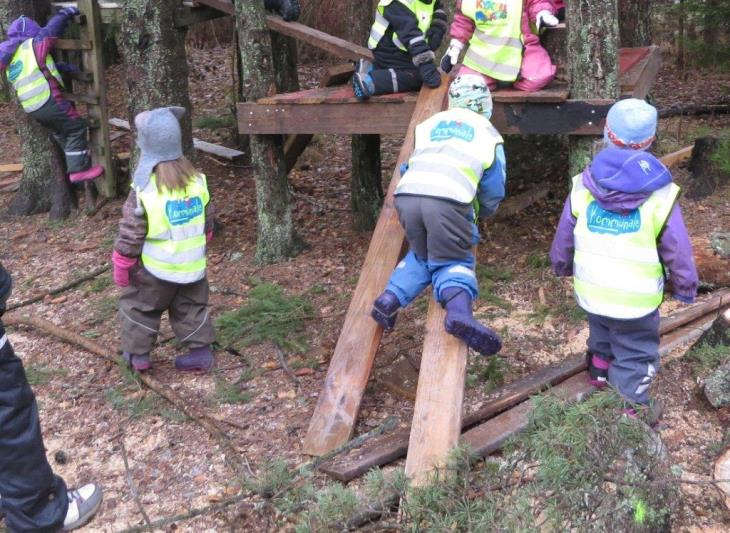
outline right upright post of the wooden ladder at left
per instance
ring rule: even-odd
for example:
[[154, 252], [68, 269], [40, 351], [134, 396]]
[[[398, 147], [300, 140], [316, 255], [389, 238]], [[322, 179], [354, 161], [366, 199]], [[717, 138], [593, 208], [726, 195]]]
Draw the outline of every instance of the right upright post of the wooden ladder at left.
[[[101, 10], [97, 0], [78, 0], [79, 11], [86, 17], [81, 26], [81, 40], [93, 43], [91, 50], [83, 50], [83, 65], [93, 75], [93, 81], [86, 84], [86, 94], [98, 104], [87, 105], [89, 117], [89, 148], [92, 164], [104, 167], [104, 176], [96, 180], [98, 191], [107, 198], [117, 195], [117, 180], [114, 174], [114, 159], [109, 142], [109, 115], [106, 100], [106, 79], [102, 58]], [[89, 209], [90, 206], [87, 206]]]

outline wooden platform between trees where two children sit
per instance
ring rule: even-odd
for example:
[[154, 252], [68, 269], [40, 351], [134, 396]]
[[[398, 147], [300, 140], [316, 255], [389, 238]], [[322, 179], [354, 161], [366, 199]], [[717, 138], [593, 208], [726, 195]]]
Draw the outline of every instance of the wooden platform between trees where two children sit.
[[[644, 98], [656, 77], [658, 47], [623, 48], [621, 90]], [[503, 134], [600, 135], [612, 100], [571, 100], [565, 84], [533, 93], [494, 91], [492, 122]], [[238, 104], [243, 134], [403, 134], [416, 93], [359, 102], [349, 86], [315, 88]]]

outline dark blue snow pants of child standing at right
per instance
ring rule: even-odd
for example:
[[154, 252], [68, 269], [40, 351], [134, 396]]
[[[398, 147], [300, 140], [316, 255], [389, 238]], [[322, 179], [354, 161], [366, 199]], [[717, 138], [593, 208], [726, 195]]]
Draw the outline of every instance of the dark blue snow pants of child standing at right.
[[588, 349], [609, 361], [608, 382], [632, 403], [649, 403], [659, 371], [659, 310], [619, 320], [588, 313]]

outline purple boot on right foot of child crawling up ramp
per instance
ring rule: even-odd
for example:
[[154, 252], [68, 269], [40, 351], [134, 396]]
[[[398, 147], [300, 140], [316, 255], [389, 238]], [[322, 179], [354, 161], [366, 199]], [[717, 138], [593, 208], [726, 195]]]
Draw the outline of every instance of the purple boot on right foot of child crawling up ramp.
[[446, 307], [446, 332], [463, 340], [469, 348], [482, 355], [494, 355], [502, 349], [502, 340], [496, 332], [474, 320], [471, 296], [464, 289], [444, 289], [443, 305]]

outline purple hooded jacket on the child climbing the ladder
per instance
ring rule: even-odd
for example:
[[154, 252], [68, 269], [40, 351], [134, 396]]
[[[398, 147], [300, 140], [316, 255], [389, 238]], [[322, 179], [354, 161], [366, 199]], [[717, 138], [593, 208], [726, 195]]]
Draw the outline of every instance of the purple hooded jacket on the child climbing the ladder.
[[[10, 61], [24, 41], [33, 39], [33, 50], [38, 61], [38, 66], [46, 74], [46, 79], [51, 86], [51, 94], [58, 107], [61, 108], [70, 118], [78, 118], [79, 114], [74, 105], [63, 97], [63, 88], [60, 86], [56, 78], [54, 78], [46, 69], [46, 56], [56, 44], [56, 41], [63, 36], [69, 21], [73, 18], [72, 14], [60, 12], [54, 15], [45, 27], [41, 28], [37, 22], [27, 17], [20, 17], [10, 24], [8, 28], [8, 38], [0, 43], [0, 70], [5, 70]], [[56, 65], [59, 70], [63, 70], [62, 64]]]

